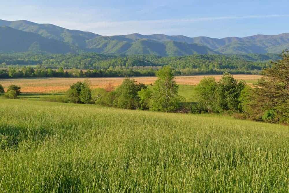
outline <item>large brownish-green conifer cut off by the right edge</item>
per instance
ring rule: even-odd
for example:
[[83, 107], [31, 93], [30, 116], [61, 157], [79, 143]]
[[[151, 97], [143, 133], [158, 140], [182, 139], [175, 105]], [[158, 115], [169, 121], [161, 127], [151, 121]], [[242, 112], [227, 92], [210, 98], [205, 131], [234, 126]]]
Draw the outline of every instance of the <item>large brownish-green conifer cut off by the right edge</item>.
[[[271, 68], [263, 70], [254, 89], [255, 100], [250, 104], [255, 109], [256, 118], [262, 116], [266, 122], [289, 123], [289, 51], [282, 53], [282, 60], [272, 63]], [[274, 112], [274, 113], [273, 113]]]

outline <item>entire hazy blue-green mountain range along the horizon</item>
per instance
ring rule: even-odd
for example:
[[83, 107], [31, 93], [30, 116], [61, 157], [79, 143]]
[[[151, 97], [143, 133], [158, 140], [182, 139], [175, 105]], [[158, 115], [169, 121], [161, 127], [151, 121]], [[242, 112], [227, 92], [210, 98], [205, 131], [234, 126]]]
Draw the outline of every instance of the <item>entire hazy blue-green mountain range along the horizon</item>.
[[52, 24], [0, 20], [0, 52], [101, 54], [265, 54], [289, 48], [289, 33], [248, 37], [187, 37], [164, 34], [101, 36]]

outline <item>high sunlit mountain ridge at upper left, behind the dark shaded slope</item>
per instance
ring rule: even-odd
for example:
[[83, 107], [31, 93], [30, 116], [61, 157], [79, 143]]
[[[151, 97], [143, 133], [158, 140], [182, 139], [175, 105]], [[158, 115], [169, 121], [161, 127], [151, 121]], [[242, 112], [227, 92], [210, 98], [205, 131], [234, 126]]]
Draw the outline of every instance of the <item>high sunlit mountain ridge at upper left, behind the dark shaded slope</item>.
[[49, 39], [63, 41], [76, 45], [78, 47], [85, 47], [85, 41], [99, 36], [91, 32], [83, 32], [79, 30], [68, 30], [52, 24], [39, 24], [30, 21], [5, 21], [0, 20], [0, 26], [12, 27], [16, 30], [25, 32], [33, 32]]

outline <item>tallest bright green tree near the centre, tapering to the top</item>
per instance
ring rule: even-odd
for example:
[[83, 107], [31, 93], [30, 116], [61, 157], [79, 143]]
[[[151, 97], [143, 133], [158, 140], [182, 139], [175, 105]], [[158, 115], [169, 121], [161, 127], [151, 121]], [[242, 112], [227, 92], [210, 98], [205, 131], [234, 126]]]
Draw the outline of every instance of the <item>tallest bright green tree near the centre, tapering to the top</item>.
[[149, 109], [152, 111], [172, 112], [180, 107], [181, 97], [178, 95], [178, 86], [173, 71], [166, 66], [157, 72], [154, 82]]

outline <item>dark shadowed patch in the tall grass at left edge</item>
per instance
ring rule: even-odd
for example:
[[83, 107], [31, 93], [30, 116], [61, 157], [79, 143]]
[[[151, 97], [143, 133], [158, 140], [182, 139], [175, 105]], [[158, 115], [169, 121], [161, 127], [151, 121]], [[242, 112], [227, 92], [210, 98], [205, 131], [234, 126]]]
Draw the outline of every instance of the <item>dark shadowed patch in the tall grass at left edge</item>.
[[50, 133], [46, 129], [30, 130], [21, 126], [0, 124], [0, 149], [18, 149], [21, 141], [31, 141], [39, 144]]

